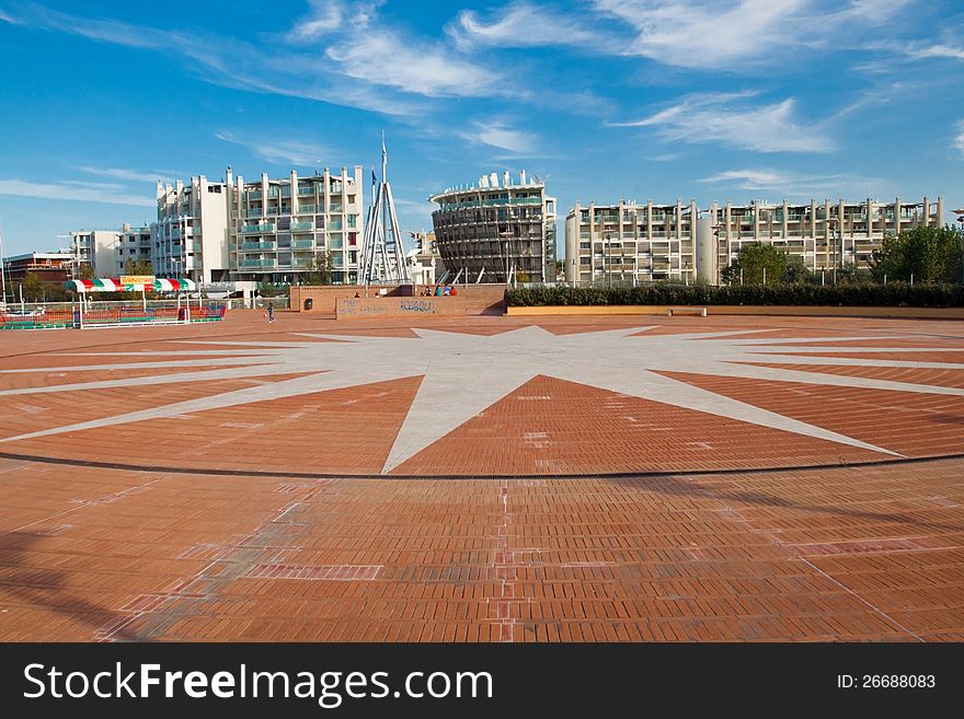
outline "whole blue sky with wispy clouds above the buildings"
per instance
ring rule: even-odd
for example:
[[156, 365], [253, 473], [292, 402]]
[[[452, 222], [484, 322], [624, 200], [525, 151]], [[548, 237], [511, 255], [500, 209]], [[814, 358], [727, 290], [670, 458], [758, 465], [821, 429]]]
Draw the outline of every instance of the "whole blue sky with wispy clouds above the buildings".
[[369, 166], [382, 129], [405, 230], [523, 169], [560, 222], [620, 197], [950, 210], [962, 28], [959, 0], [0, 0], [4, 248], [149, 222], [159, 176]]

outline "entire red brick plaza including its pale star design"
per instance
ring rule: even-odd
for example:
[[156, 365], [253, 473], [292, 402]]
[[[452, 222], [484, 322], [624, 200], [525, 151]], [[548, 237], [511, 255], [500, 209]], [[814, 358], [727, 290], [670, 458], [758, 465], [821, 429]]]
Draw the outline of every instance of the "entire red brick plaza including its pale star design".
[[277, 316], [0, 336], [0, 639], [964, 638], [961, 323]]

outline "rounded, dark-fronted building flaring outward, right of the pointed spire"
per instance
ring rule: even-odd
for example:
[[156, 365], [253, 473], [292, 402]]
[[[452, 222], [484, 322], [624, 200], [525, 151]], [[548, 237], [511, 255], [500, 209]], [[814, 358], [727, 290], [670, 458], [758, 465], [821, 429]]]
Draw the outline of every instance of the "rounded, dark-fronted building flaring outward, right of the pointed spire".
[[429, 197], [436, 246], [447, 281], [505, 282], [555, 279], [555, 198], [541, 179], [508, 172]]

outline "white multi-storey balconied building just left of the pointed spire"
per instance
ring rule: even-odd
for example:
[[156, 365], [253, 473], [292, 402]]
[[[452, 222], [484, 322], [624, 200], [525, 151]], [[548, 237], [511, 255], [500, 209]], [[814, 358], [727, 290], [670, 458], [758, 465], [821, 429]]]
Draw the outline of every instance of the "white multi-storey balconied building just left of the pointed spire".
[[363, 231], [362, 167], [352, 174], [282, 178], [263, 173], [158, 184], [151, 225], [154, 271], [197, 282], [295, 282], [330, 263], [333, 280], [354, 282]]

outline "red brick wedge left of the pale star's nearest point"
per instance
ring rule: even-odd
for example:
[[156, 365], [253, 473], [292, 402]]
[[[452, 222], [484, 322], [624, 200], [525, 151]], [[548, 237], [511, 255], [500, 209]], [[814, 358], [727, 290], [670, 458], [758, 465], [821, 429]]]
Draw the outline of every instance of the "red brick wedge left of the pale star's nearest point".
[[[245, 380], [239, 386], [257, 381]], [[232, 386], [237, 382], [218, 383], [214, 389], [239, 389]], [[418, 378], [379, 382], [194, 411], [186, 418], [151, 419], [69, 436], [20, 440], [0, 445], [0, 451], [141, 466], [378, 474], [420, 382]], [[210, 389], [194, 394], [203, 396], [208, 392]], [[142, 441], [145, 432], [150, 433], [150, 442]], [[137, 450], [131, 451], [135, 447]]]

